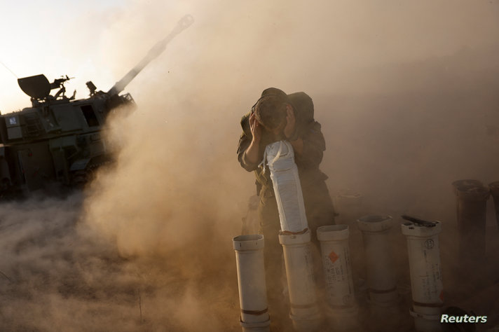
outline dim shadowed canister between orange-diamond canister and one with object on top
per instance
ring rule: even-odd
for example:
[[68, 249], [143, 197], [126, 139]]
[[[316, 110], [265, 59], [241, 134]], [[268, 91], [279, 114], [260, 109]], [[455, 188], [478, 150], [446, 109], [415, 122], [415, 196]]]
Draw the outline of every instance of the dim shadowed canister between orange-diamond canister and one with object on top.
[[395, 263], [392, 259], [391, 216], [363, 216], [357, 220], [362, 231], [366, 257], [369, 298], [374, 304], [389, 305], [399, 300]]

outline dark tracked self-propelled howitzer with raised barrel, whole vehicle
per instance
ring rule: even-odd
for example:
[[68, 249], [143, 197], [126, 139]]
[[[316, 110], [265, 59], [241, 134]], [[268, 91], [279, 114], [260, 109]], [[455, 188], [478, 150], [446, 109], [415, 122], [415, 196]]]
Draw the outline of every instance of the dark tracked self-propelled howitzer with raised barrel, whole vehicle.
[[[129, 93], [120, 93], [192, 23], [191, 15], [184, 16], [108, 92], [97, 91], [88, 81], [90, 97], [86, 99], [65, 95], [68, 76], [53, 83], [44, 75], [19, 78], [32, 106], [0, 115], [0, 196], [53, 188], [53, 184], [78, 186], [88, 181], [97, 167], [112, 161], [116, 146], [102, 132], [106, 120], [110, 113], [125, 116], [135, 106]], [[50, 95], [51, 90], [57, 92]]]

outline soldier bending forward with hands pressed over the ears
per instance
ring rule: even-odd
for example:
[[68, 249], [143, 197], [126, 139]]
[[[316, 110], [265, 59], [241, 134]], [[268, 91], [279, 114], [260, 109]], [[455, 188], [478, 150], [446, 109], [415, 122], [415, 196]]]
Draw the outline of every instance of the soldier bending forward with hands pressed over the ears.
[[[279, 243], [279, 212], [274, 197], [270, 172], [263, 172], [264, 151], [268, 144], [287, 140], [294, 149], [298, 167], [308, 228], [320, 252], [316, 230], [319, 226], [334, 223], [334, 208], [325, 180], [326, 174], [319, 170], [325, 141], [320, 123], [313, 118], [313, 102], [305, 92], [286, 95], [277, 88], [262, 92], [252, 111], [241, 119], [242, 134], [238, 144], [238, 160], [248, 172], [254, 171], [259, 195], [258, 218], [260, 233], [265, 238], [265, 269], [268, 303], [271, 312], [285, 314], [282, 290], [282, 247]], [[318, 256], [315, 255], [317, 259]], [[322, 275], [320, 263], [315, 264], [316, 275]], [[321, 271], [317, 273], [317, 271]], [[322, 282], [323, 283], [323, 282]]]

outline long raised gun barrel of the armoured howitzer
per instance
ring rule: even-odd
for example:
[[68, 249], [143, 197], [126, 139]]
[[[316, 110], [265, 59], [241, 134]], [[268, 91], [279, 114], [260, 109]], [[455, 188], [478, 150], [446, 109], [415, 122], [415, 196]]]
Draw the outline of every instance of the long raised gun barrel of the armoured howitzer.
[[180, 32], [184, 31], [187, 29], [189, 26], [192, 25], [194, 22], [194, 18], [191, 15], [185, 15], [182, 19], [179, 20], [177, 23], [177, 26], [166, 36], [164, 39], [161, 41], [158, 41], [151, 50], [149, 50], [149, 53], [142, 59], [135, 67], [132, 68], [132, 70], [128, 71], [128, 73], [121, 78], [120, 81], [116, 82], [116, 84], [113, 85], [113, 87], [107, 92], [109, 95], [118, 95], [125, 87], [132, 81], [137, 74], [139, 74], [144, 67], [146, 67], [149, 62], [151, 62], [153, 59], [156, 59], [158, 55], [163, 53], [165, 50], [166, 46], [170, 41], [177, 36]]

